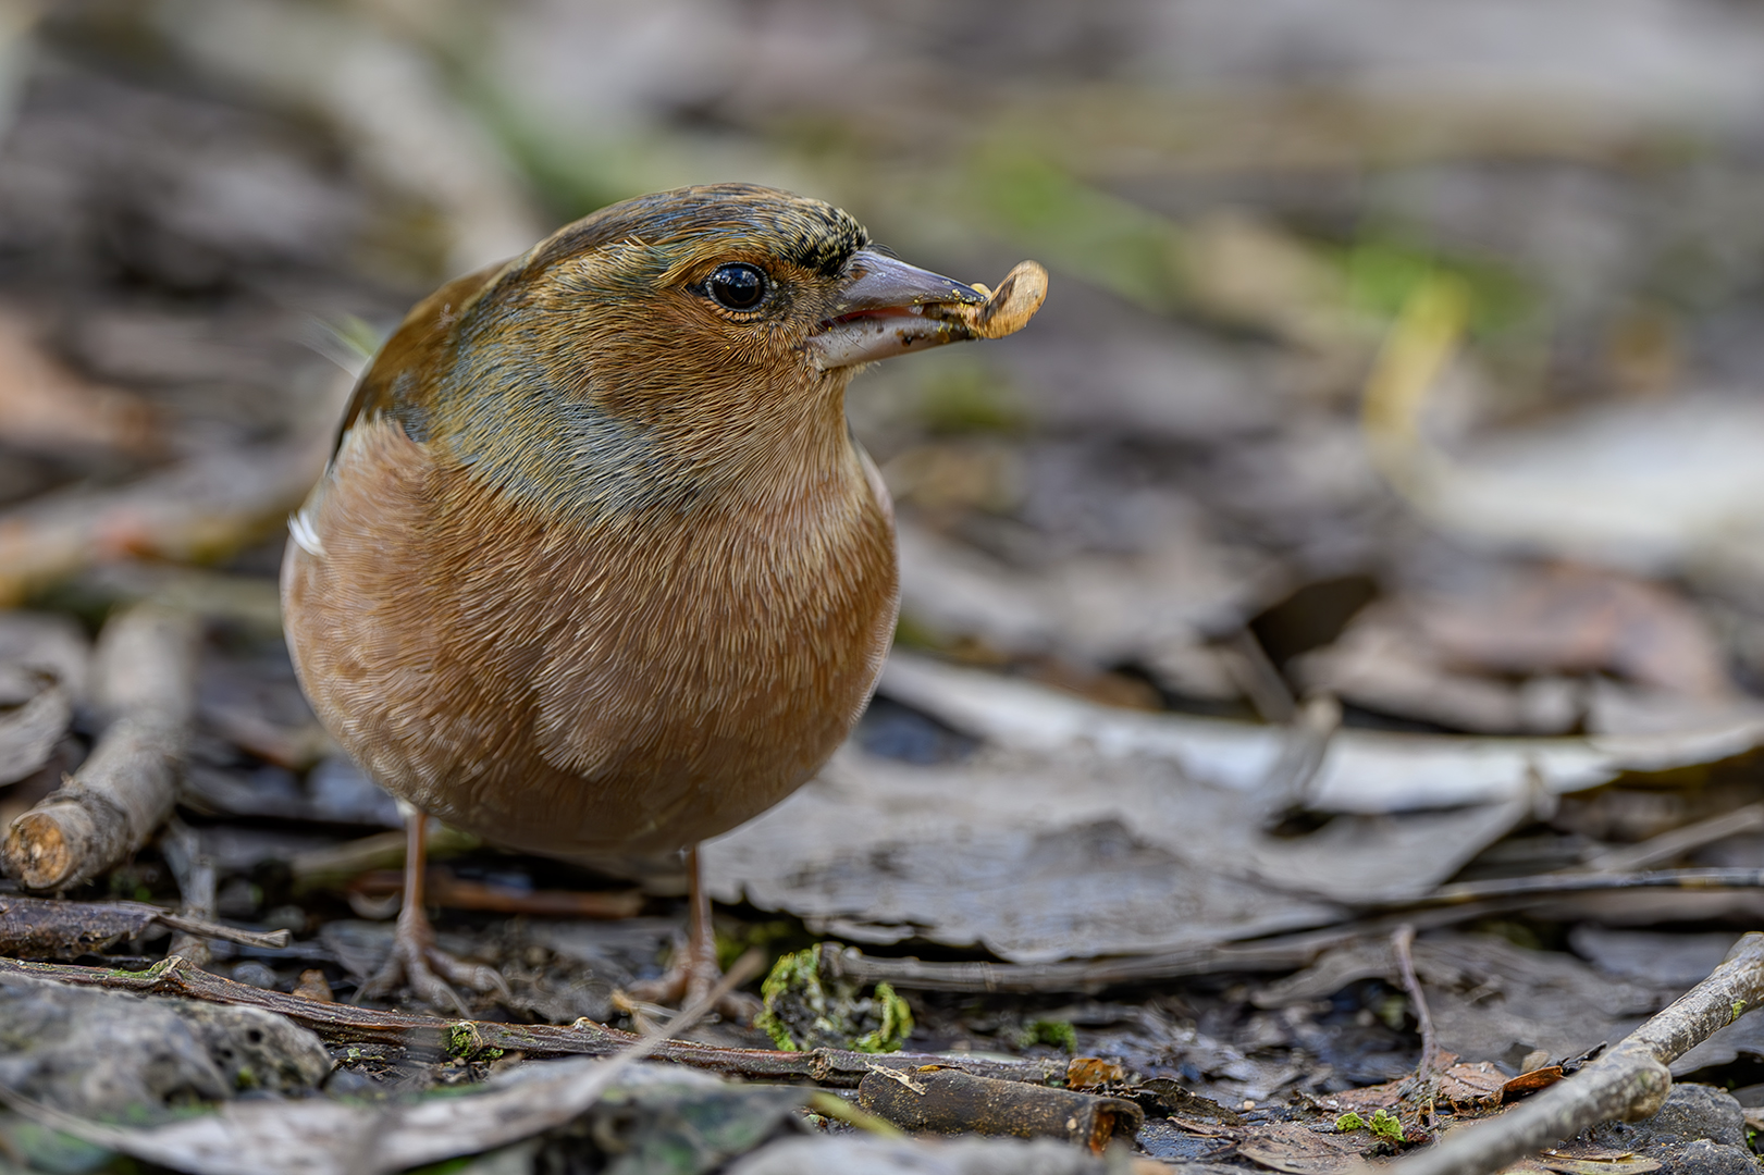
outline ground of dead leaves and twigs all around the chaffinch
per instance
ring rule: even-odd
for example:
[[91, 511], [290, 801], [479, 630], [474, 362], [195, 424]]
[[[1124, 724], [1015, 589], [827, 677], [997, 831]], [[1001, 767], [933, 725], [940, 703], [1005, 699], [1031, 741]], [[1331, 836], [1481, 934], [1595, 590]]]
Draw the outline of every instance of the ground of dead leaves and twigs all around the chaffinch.
[[[367, 1129], [399, 1170], [434, 1119], [487, 1171], [1752, 1163], [1755, 14], [0, 16], [0, 1161], [362, 1170]], [[900, 651], [824, 776], [706, 850], [730, 954], [789, 963], [774, 1037], [700, 1025], [580, 1108], [533, 1090], [667, 1027], [623, 986], [674, 866], [441, 831], [443, 939], [510, 1000], [351, 1006], [397, 812], [305, 709], [273, 570], [415, 296], [709, 176], [1053, 295], [852, 397]], [[1605, 1087], [1730, 1096], [1584, 1133], [1656, 1104], [1573, 1092], [1642, 1053]], [[561, 1108], [475, 1134], [522, 1085]], [[1535, 1136], [1420, 1145], [1535, 1089]], [[1085, 1129], [983, 1134], [1067, 1090]]]

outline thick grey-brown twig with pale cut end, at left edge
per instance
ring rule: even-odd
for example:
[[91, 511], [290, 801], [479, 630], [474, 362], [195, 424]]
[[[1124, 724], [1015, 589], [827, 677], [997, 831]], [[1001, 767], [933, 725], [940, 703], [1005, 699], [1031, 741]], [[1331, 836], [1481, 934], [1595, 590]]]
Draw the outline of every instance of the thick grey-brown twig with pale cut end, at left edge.
[[99, 639], [97, 700], [116, 720], [92, 757], [12, 820], [0, 866], [28, 889], [65, 891], [146, 843], [171, 815], [196, 702], [196, 623], [143, 603]]

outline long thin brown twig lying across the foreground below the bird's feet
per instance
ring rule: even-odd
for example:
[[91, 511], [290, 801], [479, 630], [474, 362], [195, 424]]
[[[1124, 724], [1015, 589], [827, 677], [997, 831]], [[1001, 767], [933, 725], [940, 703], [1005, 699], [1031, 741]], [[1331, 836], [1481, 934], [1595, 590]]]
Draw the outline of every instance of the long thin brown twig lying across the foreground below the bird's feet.
[[[72, 967], [69, 963], [21, 963], [0, 958], [0, 974], [19, 972], [60, 983], [136, 992], [141, 995], [180, 995], [210, 1004], [261, 1007], [319, 1034], [333, 1044], [397, 1044], [436, 1057], [475, 1057], [485, 1050], [522, 1052], [527, 1057], [609, 1057], [639, 1037], [598, 1025], [575, 1023], [496, 1023], [489, 1020], [441, 1020], [400, 1011], [376, 1011], [353, 1004], [321, 1004], [286, 992], [270, 992], [192, 967], [182, 958], [168, 958], [141, 972], [108, 967]], [[808, 1053], [780, 1053], [764, 1048], [716, 1048], [690, 1041], [669, 1041], [654, 1053], [660, 1060], [707, 1069], [725, 1076], [762, 1081], [808, 1081], [833, 1089], [856, 1089], [873, 1066], [956, 1067], [975, 1076], [1007, 1081], [1065, 1078], [1064, 1060], [988, 1060], [960, 1053], [857, 1053], [841, 1048], [817, 1048]]]

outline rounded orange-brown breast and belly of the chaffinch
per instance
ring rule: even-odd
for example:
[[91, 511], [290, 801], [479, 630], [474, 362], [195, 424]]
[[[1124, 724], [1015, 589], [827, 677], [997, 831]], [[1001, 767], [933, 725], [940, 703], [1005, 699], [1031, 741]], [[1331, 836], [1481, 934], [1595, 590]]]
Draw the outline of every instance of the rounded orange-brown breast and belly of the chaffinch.
[[[843, 436], [841, 436], [843, 441]], [[856, 446], [774, 490], [582, 520], [362, 422], [302, 512], [288, 628], [388, 789], [526, 849], [672, 847], [803, 783], [848, 732], [898, 602]]]

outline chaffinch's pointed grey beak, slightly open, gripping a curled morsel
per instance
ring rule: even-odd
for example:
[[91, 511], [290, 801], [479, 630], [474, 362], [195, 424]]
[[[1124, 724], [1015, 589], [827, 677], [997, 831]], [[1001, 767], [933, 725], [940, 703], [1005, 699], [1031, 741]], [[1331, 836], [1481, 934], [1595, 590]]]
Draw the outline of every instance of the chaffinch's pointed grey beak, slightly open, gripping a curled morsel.
[[926, 307], [983, 302], [986, 295], [970, 286], [864, 249], [847, 268], [833, 314], [808, 337], [808, 358], [831, 370], [979, 339], [960, 321], [926, 314]]

